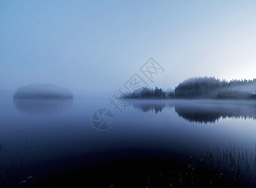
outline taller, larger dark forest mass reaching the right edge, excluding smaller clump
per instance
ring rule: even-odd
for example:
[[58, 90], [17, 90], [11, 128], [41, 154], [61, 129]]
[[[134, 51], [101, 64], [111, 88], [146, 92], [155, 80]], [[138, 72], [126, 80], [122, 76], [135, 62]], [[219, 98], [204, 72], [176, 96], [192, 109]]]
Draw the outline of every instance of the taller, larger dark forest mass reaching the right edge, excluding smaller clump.
[[256, 79], [220, 80], [215, 77], [197, 77], [179, 83], [177, 98], [256, 98]]

